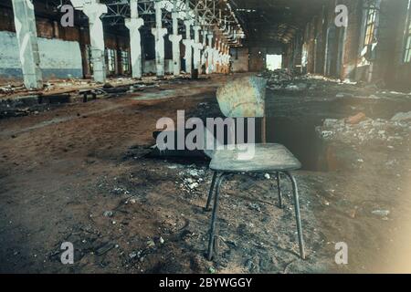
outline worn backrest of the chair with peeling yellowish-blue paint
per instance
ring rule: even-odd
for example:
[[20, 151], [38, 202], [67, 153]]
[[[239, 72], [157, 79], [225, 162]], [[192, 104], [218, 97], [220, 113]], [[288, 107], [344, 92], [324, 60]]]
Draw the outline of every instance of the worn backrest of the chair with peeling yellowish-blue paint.
[[220, 110], [227, 118], [264, 118], [267, 79], [246, 76], [228, 80], [217, 89]]

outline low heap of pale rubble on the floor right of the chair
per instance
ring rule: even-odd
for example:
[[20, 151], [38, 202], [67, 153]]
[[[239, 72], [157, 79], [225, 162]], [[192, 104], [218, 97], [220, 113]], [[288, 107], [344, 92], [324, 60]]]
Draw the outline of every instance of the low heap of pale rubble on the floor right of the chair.
[[409, 143], [411, 111], [397, 113], [391, 120], [373, 120], [367, 118], [364, 113], [343, 120], [327, 119], [316, 130], [324, 141], [360, 145], [380, 142], [391, 148]]

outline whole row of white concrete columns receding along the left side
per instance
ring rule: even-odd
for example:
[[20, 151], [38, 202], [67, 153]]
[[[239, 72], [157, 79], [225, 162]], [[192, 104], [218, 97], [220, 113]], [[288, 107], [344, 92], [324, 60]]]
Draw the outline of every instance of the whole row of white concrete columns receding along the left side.
[[[20, 48], [23, 76], [26, 88], [39, 89], [42, 87], [42, 76], [39, 66], [39, 54], [37, 47], [37, 31], [34, 6], [31, 0], [12, 0], [14, 6], [16, 34]], [[164, 36], [167, 29], [163, 27], [163, 0], [155, 0], [155, 27], [152, 34], [155, 39], [155, 64], [156, 75], [163, 78], [164, 70]], [[97, 82], [106, 80], [106, 64], [104, 58], [103, 25], [100, 16], [107, 13], [107, 6], [100, 4], [99, 0], [71, 0], [74, 8], [81, 10], [89, 18], [91, 62], [93, 65], [93, 78]], [[142, 78], [142, 39], [140, 28], [144, 21], [138, 15], [138, 0], [131, 0], [131, 16], [125, 19], [125, 26], [130, 30], [130, 49], [132, 59], [132, 78]], [[173, 73], [179, 76], [181, 72], [180, 42], [182, 36], [178, 35], [179, 13], [175, 9], [172, 12], [173, 34], [169, 40], [173, 44]], [[229, 64], [229, 47], [223, 41], [215, 39], [214, 35], [202, 26], [194, 24], [187, 13], [184, 20], [185, 39], [185, 70], [192, 74], [193, 69], [201, 73], [205, 68], [206, 74], [213, 72], [227, 72]], [[191, 30], [194, 31], [194, 39], [191, 38]], [[202, 30], [203, 42], [200, 43], [200, 31]]]

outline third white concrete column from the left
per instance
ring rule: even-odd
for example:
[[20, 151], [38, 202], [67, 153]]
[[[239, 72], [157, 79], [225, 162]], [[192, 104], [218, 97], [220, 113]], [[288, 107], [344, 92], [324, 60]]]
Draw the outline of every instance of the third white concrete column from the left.
[[130, 30], [130, 50], [132, 57], [132, 78], [142, 78], [142, 38], [140, 27], [144, 25], [144, 20], [139, 17], [138, 0], [131, 0], [131, 18], [125, 19], [125, 26]]

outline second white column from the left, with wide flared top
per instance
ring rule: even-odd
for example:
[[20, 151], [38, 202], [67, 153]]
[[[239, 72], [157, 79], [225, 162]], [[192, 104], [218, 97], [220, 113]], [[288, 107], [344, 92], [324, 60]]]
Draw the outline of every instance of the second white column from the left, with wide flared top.
[[100, 4], [98, 0], [71, 0], [71, 3], [89, 17], [93, 78], [96, 82], [104, 83], [107, 74], [104, 57], [104, 34], [100, 16], [107, 13], [107, 6]]

